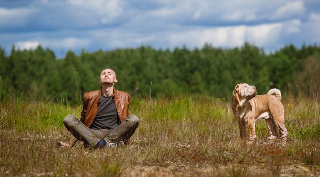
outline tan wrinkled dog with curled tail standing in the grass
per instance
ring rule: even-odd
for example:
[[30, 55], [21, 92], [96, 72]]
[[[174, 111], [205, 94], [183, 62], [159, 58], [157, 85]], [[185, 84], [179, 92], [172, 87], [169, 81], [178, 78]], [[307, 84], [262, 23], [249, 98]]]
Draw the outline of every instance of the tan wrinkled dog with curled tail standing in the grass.
[[238, 121], [241, 139], [246, 139], [248, 125], [249, 139], [256, 138], [255, 121], [265, 119], [271, 136], [277, 138], [276, 126], [280, 131], [280, 138], [286, 144], [288, 131], [284, 125], [284, 108], [281, 93], [278, 89], [271, 89], [267, 94], [256, 96], [256, 87], [246, 83], [240, 83], [235, 87], [232, 94], [231, 107]]

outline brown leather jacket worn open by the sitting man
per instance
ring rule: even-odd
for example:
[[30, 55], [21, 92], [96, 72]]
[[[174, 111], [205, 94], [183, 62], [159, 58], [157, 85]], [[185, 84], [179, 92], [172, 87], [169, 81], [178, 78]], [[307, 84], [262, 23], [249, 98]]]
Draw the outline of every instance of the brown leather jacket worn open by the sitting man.
[[[90, 127], [100, 108], [101, 89], [83, 94], [83, 108], [80, 121], [87, 127]], [[114, 90], [112, 96], [113, 102], [118, 112], [120, 123], [129, 116], [130, 95], [127, 92]]]

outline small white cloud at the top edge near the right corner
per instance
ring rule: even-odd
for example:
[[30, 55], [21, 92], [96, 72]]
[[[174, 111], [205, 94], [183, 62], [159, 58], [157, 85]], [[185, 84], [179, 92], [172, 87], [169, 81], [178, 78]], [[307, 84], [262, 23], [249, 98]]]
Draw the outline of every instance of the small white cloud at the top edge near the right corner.
[[284, 6], [277, 9], [271, 19], [287, 19], [297, 17], [303, 14], [305, 8], [302, 1], [288, 2]]

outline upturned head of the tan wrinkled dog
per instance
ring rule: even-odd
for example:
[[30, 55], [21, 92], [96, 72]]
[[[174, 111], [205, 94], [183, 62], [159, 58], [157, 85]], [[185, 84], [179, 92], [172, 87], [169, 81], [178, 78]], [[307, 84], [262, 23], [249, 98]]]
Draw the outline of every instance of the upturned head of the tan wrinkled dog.
[[255, 97], [256, 94], [256, 87], [246, 83], [237, 84], [235, 90], [233, 90], [233, 97], [237, 99], [239, 107], [242, 107], [246, 102]]

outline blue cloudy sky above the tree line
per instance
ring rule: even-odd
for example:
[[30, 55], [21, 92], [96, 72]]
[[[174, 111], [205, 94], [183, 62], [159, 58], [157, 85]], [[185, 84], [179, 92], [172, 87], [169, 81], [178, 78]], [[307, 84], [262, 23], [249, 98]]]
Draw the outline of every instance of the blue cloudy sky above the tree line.
[[320, 44], [319, 0], [0, 0], [0, 47], [38, 45], [65, 57], [142, 45], [274, 52]]

